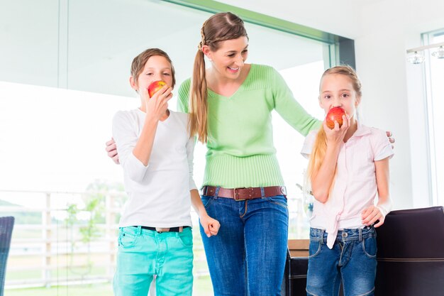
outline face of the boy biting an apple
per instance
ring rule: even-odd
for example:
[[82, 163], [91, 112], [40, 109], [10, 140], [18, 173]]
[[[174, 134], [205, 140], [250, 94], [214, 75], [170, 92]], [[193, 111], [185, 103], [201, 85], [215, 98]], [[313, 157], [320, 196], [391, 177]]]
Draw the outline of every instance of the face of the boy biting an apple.
[[171, 64], [161, 55], [153, 55], [148, 59], [137, 82], [131, 78], [131, 87], [139, 94], [148, 94], [148, 86], [156, 80], [163, 80], [169, 87], [172, 85]]

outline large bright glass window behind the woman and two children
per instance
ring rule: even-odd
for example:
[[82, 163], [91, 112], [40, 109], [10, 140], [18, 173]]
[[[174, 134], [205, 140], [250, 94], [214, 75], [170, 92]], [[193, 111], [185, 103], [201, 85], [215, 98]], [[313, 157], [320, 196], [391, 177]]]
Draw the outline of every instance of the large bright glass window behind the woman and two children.
[[[7, 295], [111, 295], [116, 229], [126, 195], [106, 156], [113, 114], [138, 106], [131, 61], [150, 47], [172, 57], [177, 85], [191, 75], [211, 14], [163, 1], [9, 1], [1, 4], [0, 215], [16, 216]], [[23, 22], [23, 19], [26, 21]], [[174, 21], [171, 21], [174, 20]], [[246, 23], [248, 62], [272, 65], [294, 97], [321, 118], [318, 80], [331, 45]], [[35, 85], [35, 86], [33, 86]], [[56, 88], [59, 87], [59, 88]], [[175, 109], [175, 102], [170, 106]], [[301, 183], [304, 138], [273, 114], [274, 143], [289, 192], [290, 238], [307, 238]], [[195, 180], [205, 148], [195, 153]], [[194, 295], [212, 295], [194, 223]], [[50, 289], [49, 292], [47, 289]], [[52, 295], [51, 294], [51, 295]]]

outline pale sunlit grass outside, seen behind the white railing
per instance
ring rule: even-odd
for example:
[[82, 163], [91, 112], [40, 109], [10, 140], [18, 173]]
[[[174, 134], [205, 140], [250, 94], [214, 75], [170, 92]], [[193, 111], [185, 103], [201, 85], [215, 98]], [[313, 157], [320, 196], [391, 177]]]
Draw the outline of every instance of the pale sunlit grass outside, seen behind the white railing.
[[[57, 238], [65, 238], [65, 234], [62, 231], [58, 231]], [[62, 235], [60, 235], [62, 234]], [[16, 232], [17, 238], [32, 238], [38, 239], [41, 236], [40, 231], [21, 231]], [[204, 249], [202, 246], [201, 237], [199, 234], [199, 228], [193, 229], [194, 236], [194, 272], [199, 276], [194, 278], [193, 295], [194, 296], [212, 296], [212, 286], [209, 275], [202, 275], [202, 273], [208, 273], [208, 266], [206, 265], [206, 258]], [[77, 243], [77, 246], [82, 246], [82, 243]], [[28, 248], [33, 251], [41, 251], [43, 245], [41, 243], [36, 245], [29, 245]], [[67, 247], [66, 247], [67, 248]], [[106, 250], [106, 248], [104, 248]], [[66, 251], [66, 250], [63, 250]], [[110, 255], [108, 254], [79, 254], [71, 253], [55, 254], [51, 256], [50, 266], [53, 268], [50, 271], [50, 277], [53, 279], [53, 286], [46, 287], [33, 287], [33, 288], [19, 288], [19, 289], [7, 289], [4, 292], [5, 296], [112, 296], [113, 290], [111, 283], [96, 283], [89, 285], [70, 285], [70, 286], [57, 286], [57, 283], [63, 282], [67, 279], [73, 278], [88, 278], [90, 276], [108, 275], [109, 270], [106, 264], [109, 264]], [[92, 263], [89, 266], [89, 262]], [[36, 280], [42, 279], [42, 256], [10, 256], [7, 267], [27, 267], [27, 269], [21, 270], [7, 270], [6, 272], [6, 285], [8, 282], [16, 280]], [[74, 266], [75, 265], [75, 266]], [[78, 266], [82, 265], [82, 266]], [[112, 275], [111, 275], [112, 276]], [[11, 283], [12, 284], [12, 283]]]

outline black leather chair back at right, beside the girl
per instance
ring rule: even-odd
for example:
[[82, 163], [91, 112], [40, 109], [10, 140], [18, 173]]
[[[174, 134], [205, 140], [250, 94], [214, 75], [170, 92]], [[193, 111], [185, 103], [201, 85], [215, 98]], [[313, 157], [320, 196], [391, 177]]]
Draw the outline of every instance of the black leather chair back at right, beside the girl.
[[444, 209], [390, 212], [377, 228], [375, 296], [444, 295]]

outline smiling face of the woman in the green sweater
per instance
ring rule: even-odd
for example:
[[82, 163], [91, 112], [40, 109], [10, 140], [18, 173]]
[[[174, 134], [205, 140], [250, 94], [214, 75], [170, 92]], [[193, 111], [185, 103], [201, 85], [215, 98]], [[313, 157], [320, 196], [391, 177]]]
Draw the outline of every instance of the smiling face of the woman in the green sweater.
[[202, 50], [211, 60], [213, 70], [218, 75], [235, 80], [240, 76], [244, 62], [248, 57], [248, 38], [242, 36], [221, 41], [216, 51], [211, 51], [208, 45], [204, 45]]

